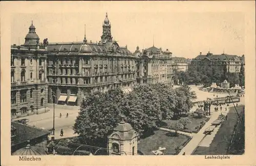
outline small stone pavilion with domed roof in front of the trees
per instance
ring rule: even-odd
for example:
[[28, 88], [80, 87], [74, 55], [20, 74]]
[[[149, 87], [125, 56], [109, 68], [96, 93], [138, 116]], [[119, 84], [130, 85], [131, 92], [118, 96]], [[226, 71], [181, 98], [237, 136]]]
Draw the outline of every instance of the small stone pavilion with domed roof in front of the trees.
[[109, 155], [137, 155], [138, 133], [122, 120], [108, 136]]

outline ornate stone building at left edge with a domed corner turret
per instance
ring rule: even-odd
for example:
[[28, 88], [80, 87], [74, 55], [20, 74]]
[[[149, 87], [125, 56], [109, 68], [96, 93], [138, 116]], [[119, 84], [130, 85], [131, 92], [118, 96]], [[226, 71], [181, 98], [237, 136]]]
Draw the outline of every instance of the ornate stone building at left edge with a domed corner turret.
[[23, 45], [11, 46], [11, 116], [45, 113], [48, 103], [46, 47], [33, 22]]

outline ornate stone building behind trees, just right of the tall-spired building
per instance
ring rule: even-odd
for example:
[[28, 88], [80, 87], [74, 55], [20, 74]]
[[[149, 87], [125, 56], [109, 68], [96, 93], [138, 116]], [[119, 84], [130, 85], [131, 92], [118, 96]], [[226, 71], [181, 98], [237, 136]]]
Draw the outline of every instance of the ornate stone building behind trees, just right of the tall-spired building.
[[137, 58], [137, 83], [154, 84], [163, 82], [172, 85], [172, 52], [168, 49], [162, 51], [161, 48], [153, 47], [139, 51], [137, 46], [134, 52]]

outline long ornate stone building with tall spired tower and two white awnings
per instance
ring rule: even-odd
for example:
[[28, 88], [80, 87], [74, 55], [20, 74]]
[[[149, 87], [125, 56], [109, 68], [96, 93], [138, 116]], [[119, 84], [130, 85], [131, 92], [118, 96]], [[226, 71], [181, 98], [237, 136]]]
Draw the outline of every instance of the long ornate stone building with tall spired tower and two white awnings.
[[131, 91], [136, 82], [136, 56], [113, 41], [107, 14], [102, 28], [101, 41], [96, 43], [84, 35], [82, 42], [48, 44], [50, 103], [80, 105], [87, 94], [96, 91], [115, 87]]

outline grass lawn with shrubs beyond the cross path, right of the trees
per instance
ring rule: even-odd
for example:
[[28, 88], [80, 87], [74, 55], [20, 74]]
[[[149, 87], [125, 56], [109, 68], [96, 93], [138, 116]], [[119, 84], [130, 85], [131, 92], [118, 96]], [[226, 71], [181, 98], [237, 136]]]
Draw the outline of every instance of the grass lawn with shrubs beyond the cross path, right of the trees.
[[[205, 118], [205, 117], [197, 118], [197, 117], [193, 117], [193, 116], [190, 116], [190, 115], [187, 116], [187, 118], [189, 118], [192, 123], [188, 124], [186, 126], [186, 129], [182, 130], [184, 132], [198, 132], [199, 129], [201, 129], [203, 127], [202, 123], [208, 119], [208, 118]], [[179, 121], [179, 120], [163, 120], [162, 123], [161, 123], [161, 127], [174, 129], [173, 126], [177, 123], [177, 121]], [[196, 127], [198, 127], [199, 129], [196, 128]]]

